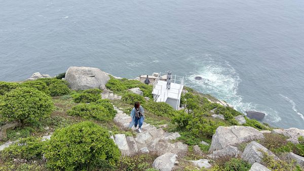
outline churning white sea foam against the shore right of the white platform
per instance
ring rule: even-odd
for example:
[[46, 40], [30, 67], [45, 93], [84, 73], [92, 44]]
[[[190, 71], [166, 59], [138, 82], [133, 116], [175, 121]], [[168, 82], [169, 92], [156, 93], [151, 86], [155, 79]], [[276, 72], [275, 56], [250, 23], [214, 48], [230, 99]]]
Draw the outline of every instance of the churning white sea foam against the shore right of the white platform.
[[[190, 87], [224, 100], [242, 113], [248, 110], [259, 111], [268, 116], [265, 117], [267, 122], [281, 120], [279, 113], [270, 107], [243, 102], [243, 97], [238, 94], [238, 86], [242, 80], [229, 62], [210, 54], [203, 55], [203, 58], [203, 62], [196, 63], [195, 71], [187, 75], [186, 82], [189, 83]], [[189, 61], [194, 59], [191, 57]], [[202, 79], [196, 80], [197, 76], [202, 77]]]

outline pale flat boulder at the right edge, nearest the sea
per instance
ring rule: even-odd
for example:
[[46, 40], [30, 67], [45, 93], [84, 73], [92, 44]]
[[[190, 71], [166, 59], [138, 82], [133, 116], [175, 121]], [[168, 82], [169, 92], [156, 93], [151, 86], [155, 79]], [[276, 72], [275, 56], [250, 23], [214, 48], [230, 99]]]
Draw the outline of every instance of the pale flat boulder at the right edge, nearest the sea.
[[273, 134], [282, 134], [286, 137], [288, 137], [288, 141], [298, 144], [298, 138], [304, 137], [304, 130], [297, 129], [296, 127], [291, 127], [290, 129], [275, 129], [272, 130]]

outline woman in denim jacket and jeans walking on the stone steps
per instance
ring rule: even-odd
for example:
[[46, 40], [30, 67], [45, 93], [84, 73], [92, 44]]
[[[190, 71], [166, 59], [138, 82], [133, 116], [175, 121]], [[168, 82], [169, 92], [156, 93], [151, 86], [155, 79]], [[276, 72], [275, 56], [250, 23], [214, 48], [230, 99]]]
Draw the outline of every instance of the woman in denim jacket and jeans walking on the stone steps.
[[144, 110], [139, 102], [135, 102], [134, 108], [132, 109], [130, 115], [131, 115], [131, 121], [129, 127], [132, 128], [132, 126], [134, 125], [136, 131], [141, 133], [142, 132], [141, 126], [144, 120]]

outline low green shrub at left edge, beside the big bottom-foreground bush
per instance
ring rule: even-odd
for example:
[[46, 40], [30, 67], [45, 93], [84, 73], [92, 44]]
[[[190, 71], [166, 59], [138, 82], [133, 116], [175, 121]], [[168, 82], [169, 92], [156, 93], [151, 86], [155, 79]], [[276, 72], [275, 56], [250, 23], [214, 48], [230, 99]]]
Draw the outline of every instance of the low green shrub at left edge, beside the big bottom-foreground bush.
[[22, 138], [0, 152], [2, 160], [42, 160], [44, 142], [40, 138], [28, 137]]

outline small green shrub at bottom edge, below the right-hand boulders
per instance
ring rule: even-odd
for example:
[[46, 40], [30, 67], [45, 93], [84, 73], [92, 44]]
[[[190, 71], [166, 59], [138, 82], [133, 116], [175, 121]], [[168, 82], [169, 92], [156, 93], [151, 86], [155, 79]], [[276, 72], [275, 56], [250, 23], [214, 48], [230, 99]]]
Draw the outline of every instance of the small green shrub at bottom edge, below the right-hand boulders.
[[239, 158], [232, 158], [230, 161], [225, 163], [224, 170], [227, 171], [247, 171], [251, 167], [251, 164], [243, 161]]

